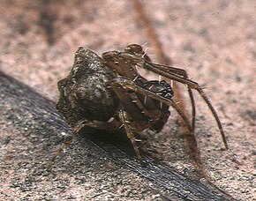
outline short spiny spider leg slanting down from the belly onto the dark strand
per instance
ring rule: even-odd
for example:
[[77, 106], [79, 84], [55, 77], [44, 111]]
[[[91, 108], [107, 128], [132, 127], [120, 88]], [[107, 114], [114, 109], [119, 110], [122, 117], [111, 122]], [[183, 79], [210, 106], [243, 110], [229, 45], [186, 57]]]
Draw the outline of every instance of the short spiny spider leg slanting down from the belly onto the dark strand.
[[139, 148], [136, 144], [136, 139], [135, 139], [134, 134], [133, 134], [135, 130], [132, 127], [132, 125], [131, 125], [131, 123], [128, 119], [127, 112], [125, 112], [124, 109], [121, 108], [121, 109], [118, 110], [118, 116], [120, 118], [121, 123], [123, 123], [123, 125], [124, 125], [124, 130], [126, 132], [126, 135], [132, 143], [133, 150], [136, 153], [136, 156], [139, 159], [140, 164], [143, 165], [141, 155], [139, 153]]

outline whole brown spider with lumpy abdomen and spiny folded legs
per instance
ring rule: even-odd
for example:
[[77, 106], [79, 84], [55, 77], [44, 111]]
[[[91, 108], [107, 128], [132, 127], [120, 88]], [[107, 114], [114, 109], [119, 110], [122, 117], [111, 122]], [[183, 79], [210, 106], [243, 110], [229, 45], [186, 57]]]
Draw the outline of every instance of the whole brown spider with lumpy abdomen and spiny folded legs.
[[[172, 100], [169, 84], [162, 80], [147, 81], [136, 68], [153, 71], [187, 86], [192, 101], [192, 125], [183, 111]], [[159, 132], [169, 118], [169, 106], [181, 115], [190, 131], [195, 127], [195, 102], [192, 89], [197, 90], [215, 116], [226, 149], [228, 145], [222, 123], [215, 108], [202, 88], [191, 79], [186, 71], [162, 64], [151, 63], [141, 46], [132, 44], [124, 51], [109, 51], [102, 57], [88, 48], [79, 48], [75, 55], [72, 71], [58, 82], [60, 98], [56, 109], [73, 128], [73, 134], [84, 126], [102, 129], [123, 129], [130, 139], [133, 149], [141, 162], [135, 131], [155, 130]], [[64, 141], [63, 146], [71, 142]], [[59, 152], [60, 152], [59, 151]]]

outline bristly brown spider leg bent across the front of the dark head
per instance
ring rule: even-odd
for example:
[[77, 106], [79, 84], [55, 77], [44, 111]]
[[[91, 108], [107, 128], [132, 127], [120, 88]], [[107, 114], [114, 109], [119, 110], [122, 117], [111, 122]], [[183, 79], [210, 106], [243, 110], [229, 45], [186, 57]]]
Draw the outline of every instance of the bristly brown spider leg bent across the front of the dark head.
[[165, 98], [161, 95], [158, 95], [157, 93], [154, 93], [154, 92], [148, 90], [147, 88], [137, 86], [129, 78], [124, 78], [124, 77], [114, 78], [111, 81], [110, 85], [112, 86], [112, 89], [115, 91], [115, 93], [117, 93], [118, 98], [124, 104], [124, 108], [128, 111], [129, 115], [132, 115], [132, 113], [130, 112], [131, 110], [130, 110], [130, 108], [127, 108], [127, 106], [125, 104], [126, 103], [125, 100], [122, 100], [123, 99], [122, 96], [124, 96], [124, 93], [119, 93], [119, 90], [125, 90], [126, 92], [132, 91], [134, 93], [140, 93], [140, 94], [143, 94], [144, 96], [148, 96], [154, 100], [159, 100], [162, 103], [164, 103], [168, 106], [171, 106], [172, 108], [175, 108], [177, 110], [177, 113], [179, 115], [181, 115], [181, 117], [183, 118], [184, 123], [187, 125], [188, 129], [190, 131], [193, 131], [192, 126], [190, 125], [187, 117], [184, 115], [183, 111], [180, 108], [178, 108], [178, 106], [174, 102], [174, 100], [171, 100], [171, 99]]

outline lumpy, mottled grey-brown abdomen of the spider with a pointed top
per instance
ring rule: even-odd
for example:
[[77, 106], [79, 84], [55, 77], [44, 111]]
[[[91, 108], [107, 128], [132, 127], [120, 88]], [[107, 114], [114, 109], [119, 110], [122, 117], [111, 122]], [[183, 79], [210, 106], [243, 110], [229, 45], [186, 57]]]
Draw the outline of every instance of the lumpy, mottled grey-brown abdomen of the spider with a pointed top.
[[58, 82], [59, 100], [56, 109], [66, 122], [75, 127], [80, 121], [107, 122], [115, 113], [118, 102], [107, 84], [114, 72], [92, 50], [80, 47], [72, 71]]

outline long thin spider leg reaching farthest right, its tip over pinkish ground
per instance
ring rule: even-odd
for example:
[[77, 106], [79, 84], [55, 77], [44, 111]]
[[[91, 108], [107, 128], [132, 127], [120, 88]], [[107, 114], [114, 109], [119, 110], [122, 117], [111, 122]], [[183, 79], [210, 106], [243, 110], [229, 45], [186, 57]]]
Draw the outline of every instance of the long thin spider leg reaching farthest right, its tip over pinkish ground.
[[171, 73], [169, 71], [163, 71], [162, 69], [158, 69], [155, 68], [154, 65], [152, 65], [152, 63], [145, 63], [144, 67], [149, 70], [149, 71], [154, 71], [155, 73], [158, 73], [162, 76], [164, 76], [165, 78], [170, 78], [173, 79], [177, 82], [183, 83], [184, 85], [187, 85], [189, 88], [195, 89], [196, 91], [198, 91], [198, 93], [200, 93], [200, 96], [205, 100], [205, 102], [207, 103], [208, 108], [210, 108], [212, 114], [215, 116], [215, 121], [218, 125], [218, 128], [222, 134], [222, 141], [225, 145], [226, 149], [229, 149], [223, 128], [222, 128], [222, 123], [220, 121], [219, 116], [217, 115], [215, 108], [213, 107], [212, 103], [210, 102], [210, 100], [207, 98], [206, 93], [203, 92], [203, 89], [200, 87], [200, 85], [194, 81], [192, 81], [189, 78], [182, 78], [179, 75], [176, 75], [174, 73]]

